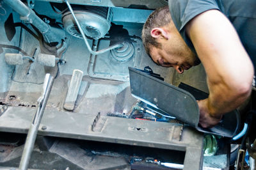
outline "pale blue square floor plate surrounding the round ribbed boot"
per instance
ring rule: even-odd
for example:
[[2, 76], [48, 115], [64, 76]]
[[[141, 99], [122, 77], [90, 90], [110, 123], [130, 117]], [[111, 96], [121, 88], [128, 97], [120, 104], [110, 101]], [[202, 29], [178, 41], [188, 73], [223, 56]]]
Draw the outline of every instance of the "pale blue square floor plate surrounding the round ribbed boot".
[[[111, 39], [102, 38], [97, 43], [99, 47], [98, 50], [109, 47]], [[141, 61], [141, 49], [142, 42], [139, 37], [131, 36], [125, 42], [129, 44], [132, 48], [132, 56], [129, 56], [126, 60], [122, 60], [124, 58], [120, 58], [118, 61], [115, 55], [115, 52], [105, 52], [103, 54], [99, 54], [97, 56], [92, 55], [92, 63], [90, 63], [90, 68], [88, 70], [88, 74], [90, 77], [98, 78], [98, 79], [111, 79], [116, 81], [129, 81], [129, 70], [128, 66], [138, 68], [140, 66]], [[126, 54], [124, 54], [126, 55]]]

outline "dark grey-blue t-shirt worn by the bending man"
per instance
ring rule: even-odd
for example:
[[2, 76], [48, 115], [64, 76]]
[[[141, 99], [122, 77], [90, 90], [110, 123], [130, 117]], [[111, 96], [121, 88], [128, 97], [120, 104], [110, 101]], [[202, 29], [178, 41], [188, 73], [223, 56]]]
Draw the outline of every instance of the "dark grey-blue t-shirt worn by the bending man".
[[[173, 22], [191, 50], [195, 48], [184, 26], [207, 10], [220, 10], [232, 22], [256, 68], [256, 0], [169, 0]], [[221, 26], [220, 26], [221, 27]]]

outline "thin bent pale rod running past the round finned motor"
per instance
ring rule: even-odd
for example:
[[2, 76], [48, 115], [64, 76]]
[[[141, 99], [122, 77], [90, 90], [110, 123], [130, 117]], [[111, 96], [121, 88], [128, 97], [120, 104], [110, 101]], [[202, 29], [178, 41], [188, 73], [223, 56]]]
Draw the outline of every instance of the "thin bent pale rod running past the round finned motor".
[[63, 1], [65, 1], [65, 2], [67, 3], [68, 9], [70, 10], [72, 16], [74, 17], [74, 20], [76, 21], [77, 27], [78, 27], [78, 29], [79, 29], [79, 31], [80, 31], [82, 37], [83, 37], [84, 43], [86, 44], [86, 47], [88, 48], [88, 50], [90, 51], [91, 54], [93, 54], [93, 55], [99, 55], [99, 54], [102, 54], [102, 53], [104, 53], [104, 52], [108, 52], [109, 50], [117, 49], [117, 48], [123, 47], [123, 45], [122, 45], [121, 43], [119, 43], [119, 44], [111, 45], [111, 46], [109, 46], [109, 47], [106, 48], [106, 49], [102, 49], [102, 50], [98, 50], [98, 51], [93, 51], [93, 50], [91, 49], [91, 47], [90, 47], [88, 41], [87, 41], [86, 36], [84, 35], [84, 31], [83, 31], [83, 29], [81, 28], [81, 26], [80, 26], [80, 24], [79, 24], [79, 22], [78, 22], [78, 20], [77, 20], [77, 18], [76, 18], [76, 15], [74, 14], [74, 11], [72, 10], [72, 7], [71, 7], [70, 3], [68, 3], [67, 0], [63, 0]]

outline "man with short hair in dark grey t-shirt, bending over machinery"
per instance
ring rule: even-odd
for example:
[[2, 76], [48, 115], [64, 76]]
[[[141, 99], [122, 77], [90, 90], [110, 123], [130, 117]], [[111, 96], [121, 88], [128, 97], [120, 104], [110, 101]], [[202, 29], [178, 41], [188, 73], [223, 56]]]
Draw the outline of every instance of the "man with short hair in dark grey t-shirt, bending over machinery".
[[172, 66], [179, 73], [202, 62], [209, 98], [198, 101], [199, 123], [213, 127], [250, 96], [252, 61], [256, 63], [256, 1], [169, 0], [169, 6], [172, 17], [165, 6], [145, 22], [145, 50], [158, 65]]

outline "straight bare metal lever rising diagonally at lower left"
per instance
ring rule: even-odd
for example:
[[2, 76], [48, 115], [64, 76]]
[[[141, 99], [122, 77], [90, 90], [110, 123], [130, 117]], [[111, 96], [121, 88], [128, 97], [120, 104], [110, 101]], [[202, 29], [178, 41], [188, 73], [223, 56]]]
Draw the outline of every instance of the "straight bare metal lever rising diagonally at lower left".
[[20, 160], [19, 169], [22, 169], [22, 170], [28, 169], [29, 159], [31, 157], [31, 153], [33, 151], [35, 140], [36, 140], [36, 134], [38, 132], [38, 127], [40, 125], [42, 116], [44, 114], [44, 109], [51, 92], [52, 84], [53, 84], [53, 77], [49, 73], [47, 73], [44, 79], [44, 91], [41, 97], [38, 98], [38, 108], [36, 110], [36, 114], [33, 119], [33, 122], [31, 123], [31, 126], [29, 128], [28, 136], [26, 138], [26, 143], [24, 146], [24, 150], [22, 152], [21, 160]]

